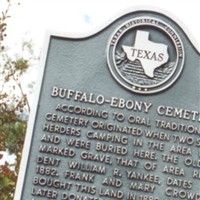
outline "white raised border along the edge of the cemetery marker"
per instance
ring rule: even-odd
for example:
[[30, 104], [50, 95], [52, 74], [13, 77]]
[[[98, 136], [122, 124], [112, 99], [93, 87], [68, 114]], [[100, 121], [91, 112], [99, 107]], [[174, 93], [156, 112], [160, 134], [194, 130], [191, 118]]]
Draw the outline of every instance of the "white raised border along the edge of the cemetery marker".
[[38, 79], [37, 79], [36, 89], [34, 92], [34, 103], [32, 105], [31, 113], [29, 115], [25, 142], [24, 142], [24, 147], [22, 151], [22, 158], [20, 162], [20, 169], [19, 169], [17, 184], [15, 188], [15, 193], [14, 193], [14, 200], [21, 200], [21, 196], [22, 196], [22, 191], [24, 187], [24, 179], [27, 173], [27, 164], [28, 164], [30, 150], [31, 150], [30, 147], [32, 145], [33, 129], [35, 126], [34, 121], [37, 115], [38, 102], [39, 102], [39, 98], [41, 94], [44, 71], [45, 71], [46, 61], [47, 61], [46, 59], [47, 59], [47, 55], [49, 51], [51, 37], [63, 37], [66, 39], [67, 38], [84, 39], [84, 38], [87, 38], [99, 33], [101, 30], [105, 29], [115, 20], [123, 17], [124, 15], [135, 13], [135, 12], [154, 12], [155, 14], [157, 13], [157, 14], [165, 16], [166, 18], [169, 18], [184, 32], [184, 34], [186, 35], [191, 45], [194, 47], [195, 51], [197, 51], [198, 54], [200, 54], [199, 45], [197, 41], [195, 40], [194, 36], [192, 35], [192, 33], [190, 32], [189, 28], [186, 27], [186, 25], [178, 17], [176, 17], [172, 12], [168, 12], [164, 10], [163, 8], [159, 8], [159, 7], [133, 5], [130, 8], [123, 9], [122, 11], [115, 13], [113, 17], [110, 17], [108, 20], [104, 21], [102, 24], [96, 26], [95, 28], [93, 28], [92, 30], [88, 32], [73, 33], [73, 32], [63, 32], [63, 31], [61, 32], [61, 31], [55, 31], [55, 30], [46, 31], [46, 34], [44, 36], [40, 64], [39, 64], [40, 68], [38, 71]]

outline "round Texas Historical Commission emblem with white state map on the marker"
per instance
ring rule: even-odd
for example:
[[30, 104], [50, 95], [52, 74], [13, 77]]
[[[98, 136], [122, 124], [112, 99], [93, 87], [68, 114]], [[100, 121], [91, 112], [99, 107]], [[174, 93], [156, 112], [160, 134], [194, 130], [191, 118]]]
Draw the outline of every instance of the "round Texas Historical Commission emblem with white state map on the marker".
[[170, 87], [180, 76], [184, 47], [166, 22], [138, 17], [126, 21], [112, 34], [107, 60], [120, 85], [136, 93], [153, 94]]

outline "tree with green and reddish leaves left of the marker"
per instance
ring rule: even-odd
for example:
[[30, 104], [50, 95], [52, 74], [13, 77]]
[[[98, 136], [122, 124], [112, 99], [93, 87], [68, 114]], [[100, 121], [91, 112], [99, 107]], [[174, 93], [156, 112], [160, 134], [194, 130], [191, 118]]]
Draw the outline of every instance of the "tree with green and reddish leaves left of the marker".
[[[13, 199], [30, 112], [28, 95], [24, 92], [21, 79], [32, 66], [31, 62], [38, 60], [34, 57], [31, 40], [22, 42], [21, 55], [9, 54], [5, 37], [11, 6], [11, 0], [7, 0], [7, 8], [0, 16], [0, 151], [16, 155], [16, 162], [13, 165], [6, 162], [0, 166], [1, 200]], [[24, 58], [23, 52], [29, 56]], [[2, 157], [0, 154], [0, 160]]]

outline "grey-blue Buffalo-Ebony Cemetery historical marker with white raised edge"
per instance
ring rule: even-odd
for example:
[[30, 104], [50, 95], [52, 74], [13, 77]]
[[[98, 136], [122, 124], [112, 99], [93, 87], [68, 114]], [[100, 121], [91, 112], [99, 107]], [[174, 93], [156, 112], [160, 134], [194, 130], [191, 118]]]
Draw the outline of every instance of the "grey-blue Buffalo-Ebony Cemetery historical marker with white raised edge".
[[199, 53], [177, 22], [52, 34], [43, 67], [15, 200], [200, 199]]

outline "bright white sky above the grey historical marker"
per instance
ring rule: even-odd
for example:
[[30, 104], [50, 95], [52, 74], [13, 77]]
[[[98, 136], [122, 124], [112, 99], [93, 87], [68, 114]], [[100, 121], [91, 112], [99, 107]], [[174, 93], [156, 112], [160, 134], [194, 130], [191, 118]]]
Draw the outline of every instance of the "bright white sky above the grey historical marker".
[[[0, 10], [6, 0], [0, 0]], [[152, 7], [178, 19], [198, 48], [200, 11], [198, 0], [12, 0], [7, 44], [13, 51], [27, 36], [41, 49], [48, 30], [65, 33], [90, 32], [129, 8]], [[18, 5], [20, 2], [20, 5]], [[32, 72], [31, 72], [32, 73]], [[34, 72], [37, 77], [37, 70]], [[32, 76], [33, 77], [33, 76]], [[6, 153], [7, 155], [7, 153]], [[14, 157], [5, 156], [14, 161]], [[2, 162], [3, 160], [1, 160]], [[0, 163], [1, 164], [1, 163]]]

